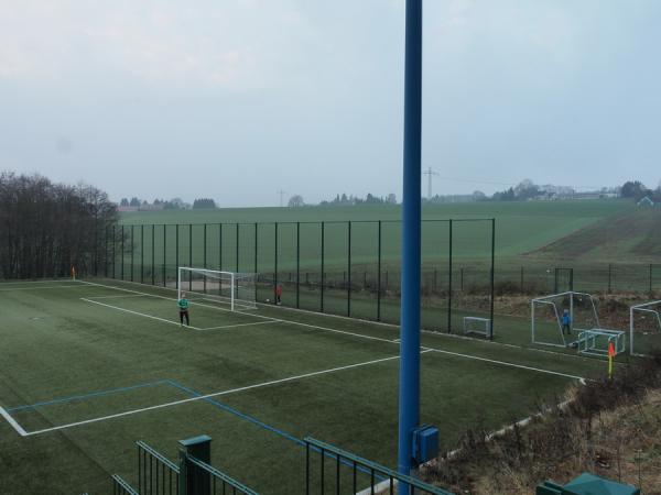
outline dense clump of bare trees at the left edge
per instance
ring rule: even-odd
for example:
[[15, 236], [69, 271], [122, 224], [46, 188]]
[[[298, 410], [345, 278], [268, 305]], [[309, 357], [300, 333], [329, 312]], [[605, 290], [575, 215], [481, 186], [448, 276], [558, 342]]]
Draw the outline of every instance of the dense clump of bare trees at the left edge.
[[91, 273], [106, 263], [100, 243], [119, 217], [106, 193], [40, 175], [0, 174], [0, 277]]

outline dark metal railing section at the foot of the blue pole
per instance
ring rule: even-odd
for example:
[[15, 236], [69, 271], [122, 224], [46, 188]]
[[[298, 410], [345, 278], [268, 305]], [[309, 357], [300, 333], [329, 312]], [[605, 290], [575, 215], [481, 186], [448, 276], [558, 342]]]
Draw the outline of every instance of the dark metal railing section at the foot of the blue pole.
[[[398, 473], [376, 462], [360, 458], [313, 438], [305, 438], [305, 494], [357, 494], [362, 488], [370, 495], [394, 495], [395, 487], [403, 483], [409, 494], [453, 495], [420, 480]], [[313, 453], [318, 454], [319, 463], [312, 462]], [[328, 460], [333, 466], [326, 466]], [[346, 473], [348, 471], [348, 473]], [[346, 473], [343, 477], [343, 473]], [[316, 482], [318, 483], [316, 483]], [[367, 486], [365, 486], [367, 485]]]

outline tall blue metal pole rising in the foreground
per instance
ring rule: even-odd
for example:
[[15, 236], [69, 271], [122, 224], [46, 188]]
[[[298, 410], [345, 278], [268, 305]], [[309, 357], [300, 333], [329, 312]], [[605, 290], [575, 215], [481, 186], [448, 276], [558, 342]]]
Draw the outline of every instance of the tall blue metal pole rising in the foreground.
[[[413, 468], [413, 430], [420, 422], [420, 245], [422, 142], [422, 0], [407, 0], [404, 75], [404, 194], [398, 470]], [[400, 495], [409, 486], [400, 484]]]

